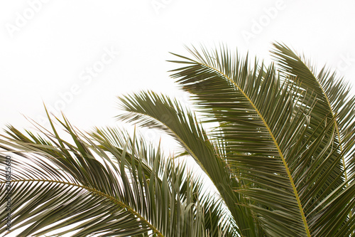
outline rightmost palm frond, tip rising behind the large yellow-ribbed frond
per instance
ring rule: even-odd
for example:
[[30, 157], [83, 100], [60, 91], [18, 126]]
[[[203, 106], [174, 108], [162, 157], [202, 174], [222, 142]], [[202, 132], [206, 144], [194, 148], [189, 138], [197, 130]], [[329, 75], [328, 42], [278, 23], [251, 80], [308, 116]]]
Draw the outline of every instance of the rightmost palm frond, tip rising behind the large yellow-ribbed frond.
[[[327, 117], [328, 120], [337, 117], [334, 127], [337, 140], [342, 143], [339, 149], [346, 149], [346, 146], [351, 145], [351, 137], [347, 135], [355, 129], [355, 97], [351, 95], [349, 83], [345, 83], [342, 78], [337, 77], [337, 73], [327, 69], [326, 66], [317, 73], [305, 59], [288, 46], [274, 43], [274, 47], [272, 53], [280, 65], [280, 70], [289, 75], [290, 80], [302, 90], [312, 91], [312, 94], [307, 94], [308, 97], [317, 98], [311, 115], [315, 122], [322, 120], [323, 117]], [[348, 142], [350, 144], [347, 144]], [[344, 155], [343, 168], [346, 167], [345, 159], [352, 157], [354, 153]], [[351, 171], [354, 172], [352, 169], [348, 170]], [[346, 178], [346, 170], [344, 174]]]

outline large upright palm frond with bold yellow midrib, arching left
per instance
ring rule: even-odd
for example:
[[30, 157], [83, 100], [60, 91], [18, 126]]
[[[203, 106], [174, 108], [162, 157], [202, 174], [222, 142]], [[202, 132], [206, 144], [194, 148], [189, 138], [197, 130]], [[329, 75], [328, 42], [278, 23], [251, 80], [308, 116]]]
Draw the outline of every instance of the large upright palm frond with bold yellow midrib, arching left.
[[[257, 186], [243, 190], [258, 201], [253, 211], [268, 222], [280, 222], [284, 228], [275, 230], [275, 226], [264, 226], [272, 234], [284, 235], [309, 234], [309, 227], [296, 188], [295, 180], [288, 165], [285, 149], [297, 143], [302, 134], [307, 111], [295, 113], [294, 101], [288, 90], [283, 90], [281, 80], [273, 66], [264, 70], [252, 69], [248, 60], [230, 56], [228, 51], [209, 53], [202, 49], [190, 51], [195, 60], [175, 61], [190, 63], [190, 67], [179, 68], [173, 75], [179, 78], [178, 83], [183, 90], [195, 96], [197, 110], [204, 112], [212, 121], [219, 122], [222, 135], [218, 139], [226, 142], [228, 158], [233, 169], [241, 173], [241, 177]], [[259, 73], [261, 71], [261, 73]], [[195, 86], [203, 90], [194, 90]], [[201, 92], [200, 92], [201, 91]], [[298, 123], [293, 122], [299, 121]], [[260, 166], [264, 162], [264, 166]], [[263, 185], [264, 189], [261, 189]], [[256, 196], [251, 190], [257, 189]], [[242, 190], [239, 190], [241, 192]], [[268, 195], [272, 193], [271, 195]], [[278, 200], [282, 200], [280, 205]], [[262, 208], [268, 202], [268, 209]], [[298, 221], [298, 222], [296, 222]], [[263, 221], [266, 223], [266, 221]], [[283, 232], [281, 232], [283, 231]]]

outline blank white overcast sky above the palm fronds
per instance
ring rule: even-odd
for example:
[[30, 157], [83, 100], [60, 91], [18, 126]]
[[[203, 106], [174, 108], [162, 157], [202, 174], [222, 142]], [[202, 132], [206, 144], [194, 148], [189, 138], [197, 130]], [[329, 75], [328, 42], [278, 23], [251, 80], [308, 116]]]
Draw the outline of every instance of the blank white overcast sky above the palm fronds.
[[355, 85], [355, 1], [1, 1], [0, 125], [40, 122], [43, 102], [73, 125], [114, 125], [116, 96], [177, 96], [169, 52], [225, 43], [270, 60], [280, 41]]

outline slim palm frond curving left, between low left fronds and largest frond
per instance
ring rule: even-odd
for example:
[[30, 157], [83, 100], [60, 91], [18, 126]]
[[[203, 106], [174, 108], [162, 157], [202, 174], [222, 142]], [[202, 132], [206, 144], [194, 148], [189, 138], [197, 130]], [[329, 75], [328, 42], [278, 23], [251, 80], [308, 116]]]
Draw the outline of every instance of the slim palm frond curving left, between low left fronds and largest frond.
[[126, 111], [118, 116], [120, 120], [135, 121], [173, 136], [217, 187], [236, 221], [239, 234], [256, 235], [258, 227], [244, 206], [247, 200], [233, 191], [241, 184], [237, 179], [231, 179], [234, 174], [229, 165], [216, 153], [217, 147], [209, 140], [190, 110], [182, 107], [177, 100], [153, 92], [141, 92], [119, 99], [121, 108]]

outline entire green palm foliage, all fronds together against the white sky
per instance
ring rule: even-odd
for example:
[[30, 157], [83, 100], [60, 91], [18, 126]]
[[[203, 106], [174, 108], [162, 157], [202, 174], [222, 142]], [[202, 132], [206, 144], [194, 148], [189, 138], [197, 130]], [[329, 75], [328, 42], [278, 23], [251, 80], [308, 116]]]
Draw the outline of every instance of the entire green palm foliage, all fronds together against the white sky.
[[204, 193], [188, 164], [136, 133], [84, 135], [58, 120], [71, 144], [48, 115], [53, 132], [9, 127], [0, 140], [21, 157], [11, 163], [11, 224], [26, 226], [21, 236], [71, 224], [73, 236], [355, 236], [349, 85], [280, 43], [276, 65], [267, 67], [224, 46], [188, 51], [192, 58], [174, 54], [182, 68], [172, 78], [190, 93], [194, 112], [142, 91], [119, 98], [125, 112], [118, 118], [174, 137], [183, 148], [177, 157], [194, 159], [217, 195]]

